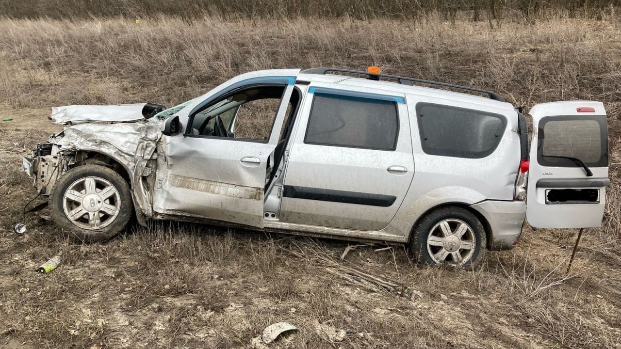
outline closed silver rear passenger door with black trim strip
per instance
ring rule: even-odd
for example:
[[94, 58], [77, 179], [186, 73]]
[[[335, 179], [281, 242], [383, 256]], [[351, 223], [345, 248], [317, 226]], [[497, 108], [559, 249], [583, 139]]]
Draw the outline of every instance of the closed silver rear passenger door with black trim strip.
[[311, 84], [283, 179], [281, 221], [376, 231], [414, 176], [405, 96]]

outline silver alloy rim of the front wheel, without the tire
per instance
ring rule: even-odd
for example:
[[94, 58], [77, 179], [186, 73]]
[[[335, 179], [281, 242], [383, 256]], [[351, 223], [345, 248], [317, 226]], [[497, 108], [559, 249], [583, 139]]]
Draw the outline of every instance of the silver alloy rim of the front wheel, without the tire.
[[80, 178], [63, 194], [63, 210], [71, 223], [82, 229], [105, 228], [119, 215], [119, 191], [106, 179]]

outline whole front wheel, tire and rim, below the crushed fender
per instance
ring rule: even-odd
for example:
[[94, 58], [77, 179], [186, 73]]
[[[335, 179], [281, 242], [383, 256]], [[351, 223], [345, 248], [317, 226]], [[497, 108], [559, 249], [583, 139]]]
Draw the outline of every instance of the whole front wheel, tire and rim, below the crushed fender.
[[50, 207], [63, 232], [89, 242], [117, 235], [134, 211], [127, 181], [101, 165], [81, 165], [63, 174], [50, 195]]

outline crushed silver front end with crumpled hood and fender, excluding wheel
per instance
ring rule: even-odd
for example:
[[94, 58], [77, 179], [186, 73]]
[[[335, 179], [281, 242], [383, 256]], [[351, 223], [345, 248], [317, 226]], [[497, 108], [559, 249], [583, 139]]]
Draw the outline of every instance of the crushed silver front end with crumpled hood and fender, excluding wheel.
[[22, 159], [22, 169], [34, 178], [37, 193], [50, 196], [58, 179], [76, 166], [112, 168], [130, 184], [137, 213], [150, 217], [161, 131], [160, 124], [146, 120], [161, 109], [155, 104], [54, 108], [50, 119], [65, 129], [39, 143]]

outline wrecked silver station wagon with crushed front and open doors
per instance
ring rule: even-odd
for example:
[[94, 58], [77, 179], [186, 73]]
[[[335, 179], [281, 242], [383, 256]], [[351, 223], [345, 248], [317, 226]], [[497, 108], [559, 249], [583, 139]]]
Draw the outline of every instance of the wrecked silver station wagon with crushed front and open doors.
[[520, 111], [491, 91], [376, 67], [253, 71], [170, 109], [53, 108], [65, 129], [22, 166], [83, 240], [135, 215], [409, 244], [424, 263], [471, 268], [514, 247], [526, 217], [602, 222], [603, 104], [533, 106], [530, 148]]

